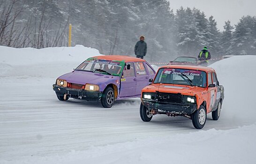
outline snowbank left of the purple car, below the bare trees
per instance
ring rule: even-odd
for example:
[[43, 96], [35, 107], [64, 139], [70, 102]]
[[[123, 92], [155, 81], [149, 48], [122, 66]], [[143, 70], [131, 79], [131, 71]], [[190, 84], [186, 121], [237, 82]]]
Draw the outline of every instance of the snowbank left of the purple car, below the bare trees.
[[98, 50], [83, 45], [43, 49], [0, 46], [0, 77], [57, 78], [98, 55]]

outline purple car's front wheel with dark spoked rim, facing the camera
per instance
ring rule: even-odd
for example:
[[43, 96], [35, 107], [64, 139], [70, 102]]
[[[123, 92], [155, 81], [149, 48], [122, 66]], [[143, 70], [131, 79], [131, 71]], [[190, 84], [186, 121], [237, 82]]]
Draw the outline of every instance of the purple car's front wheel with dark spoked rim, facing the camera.
[[113, 88], [112, 87], [107, 87], [104, 90], [100, 101], [101, 101], [101, 104], [104, 108], [111, 108], [114, 104], [114, 99], [115, 99], [115, 95], [114, 95]]

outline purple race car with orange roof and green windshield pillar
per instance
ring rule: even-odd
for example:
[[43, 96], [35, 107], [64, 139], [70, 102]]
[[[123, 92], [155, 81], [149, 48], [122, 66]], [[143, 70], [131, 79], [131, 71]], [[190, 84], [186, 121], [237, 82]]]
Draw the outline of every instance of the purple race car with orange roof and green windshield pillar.
[[60, 76], [53, 90], [60, 101], [69, 97], [100, 101], [110, 108], [114, 100], [140, 97], [155, 71], [145, 60], [128, 56], [95, 56]]

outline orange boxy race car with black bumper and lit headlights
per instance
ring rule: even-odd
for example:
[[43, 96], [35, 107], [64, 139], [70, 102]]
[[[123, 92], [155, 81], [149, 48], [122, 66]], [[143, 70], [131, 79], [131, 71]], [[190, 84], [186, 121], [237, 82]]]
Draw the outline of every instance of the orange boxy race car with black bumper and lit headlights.
[[171, 65], [158, 69], [154, 80], [143, 88], [140, 116], [150, 121], [153, 115], [184, 116], [194, 127], [205, 125], [206, 114], [218, 120], [224, 99], [215, 70], [210, 67]]

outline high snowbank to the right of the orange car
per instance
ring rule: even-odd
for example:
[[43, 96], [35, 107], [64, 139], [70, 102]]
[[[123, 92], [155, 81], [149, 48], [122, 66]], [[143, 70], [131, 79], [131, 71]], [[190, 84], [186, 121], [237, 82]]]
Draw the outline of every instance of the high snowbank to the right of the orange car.
[[209, 66], [215, 69], [225, 89], [222, 117], [233, 120], [232, 124], [237, 126], [256, 122], [255, 63], [256, 56], [246, 55], [233, 56]]

